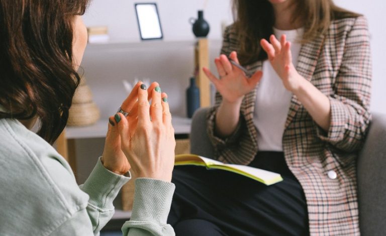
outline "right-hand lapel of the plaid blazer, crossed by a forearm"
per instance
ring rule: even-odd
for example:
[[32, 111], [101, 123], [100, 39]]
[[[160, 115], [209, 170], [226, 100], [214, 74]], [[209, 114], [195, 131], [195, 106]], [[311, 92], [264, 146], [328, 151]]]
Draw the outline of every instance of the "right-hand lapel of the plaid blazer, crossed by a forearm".
[[[313, 41], [303, 44], [300, 49], [296, 70], [308, 81], [311, 81], [312, 79], [315, 67], [318, 63], [318, 59], [323, 48], [324, 41], [325, 35], [320, 34]], [[289, 105], [285, 128], [287, 128], [288, 125], [292, 122], [300, 106], [301, 103], [298, 100], [298, 97], [293, 95], [291, 98], [291, 104]]]

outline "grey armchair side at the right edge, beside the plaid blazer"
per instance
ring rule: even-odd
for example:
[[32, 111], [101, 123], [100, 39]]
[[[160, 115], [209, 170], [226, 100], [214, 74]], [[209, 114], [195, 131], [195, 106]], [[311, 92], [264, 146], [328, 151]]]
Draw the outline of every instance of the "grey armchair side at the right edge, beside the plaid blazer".
[[375, 113], [357, 162], [362, 235], [386, 232], [386, 115]]

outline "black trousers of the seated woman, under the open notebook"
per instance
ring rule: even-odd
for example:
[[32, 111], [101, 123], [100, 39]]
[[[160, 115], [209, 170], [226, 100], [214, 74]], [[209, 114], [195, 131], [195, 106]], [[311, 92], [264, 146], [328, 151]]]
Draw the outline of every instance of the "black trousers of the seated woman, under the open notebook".
[[168, 217], [176, 235], [308, 235], [303, 189], [281, 152], [259, 152], [250, 166], [280, 173], [266, 186], [224, 170], [176, 166]]

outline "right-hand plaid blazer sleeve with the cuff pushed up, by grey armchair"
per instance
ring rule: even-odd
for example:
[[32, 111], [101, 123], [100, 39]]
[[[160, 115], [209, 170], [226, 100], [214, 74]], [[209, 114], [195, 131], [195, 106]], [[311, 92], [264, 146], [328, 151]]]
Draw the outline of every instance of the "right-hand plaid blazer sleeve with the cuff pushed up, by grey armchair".
[[367, 22], [358, 17], [348, 33], [344, 55], [329, 97], [331, 123], [325, 132], [315, 124], [318, 137], [346, 152], [358, 151], [370, 123], [371, 57]]

